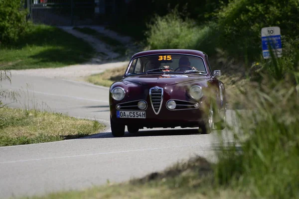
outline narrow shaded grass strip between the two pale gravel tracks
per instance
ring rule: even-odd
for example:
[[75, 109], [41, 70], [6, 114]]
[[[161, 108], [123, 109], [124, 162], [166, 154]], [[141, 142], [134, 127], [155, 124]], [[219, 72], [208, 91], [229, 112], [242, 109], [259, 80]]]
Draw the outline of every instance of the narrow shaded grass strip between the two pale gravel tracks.
[[95, 38], [103, 41], [107, 45], [111, 46], [113, 51], [115, 51], [123, 56], [126, 55], [126, 50], [127, 50], [126, 46], [122, 42], [120, 42], [116, 39], [113, 39], [103, 33], [100, 33], [94, 29], [87, 28], [87, 27], [84, 27], [84, 28], [74, 27], [73, 29], [78, 30], [84, 34], [92, 35]]

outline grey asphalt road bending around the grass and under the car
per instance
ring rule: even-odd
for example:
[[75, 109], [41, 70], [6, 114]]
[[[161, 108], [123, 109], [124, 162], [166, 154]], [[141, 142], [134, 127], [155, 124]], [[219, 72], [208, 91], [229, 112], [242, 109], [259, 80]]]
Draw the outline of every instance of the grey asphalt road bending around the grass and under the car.
[[[14, 75], [2, 89], [18, 90], [13, 107], [36, 107], [96, 118], [109, 125], [108, 88], [61, 79]], [[6, 100], [9, 102], [9, 100]], [[49, 107], [51, 107], [49, 109]], [[228, 110], [231, 123], [233, 112]], [[44, 195], [122, 182], [161, 171], [177, 161], [200, 155], [215, 161], [216, 131], [195, 129], [148, 130], [114, 138], [105, 132], [75, 140], [0, 147], [0, 198]], [[220, 132], [226, 141], [229, 132]]]

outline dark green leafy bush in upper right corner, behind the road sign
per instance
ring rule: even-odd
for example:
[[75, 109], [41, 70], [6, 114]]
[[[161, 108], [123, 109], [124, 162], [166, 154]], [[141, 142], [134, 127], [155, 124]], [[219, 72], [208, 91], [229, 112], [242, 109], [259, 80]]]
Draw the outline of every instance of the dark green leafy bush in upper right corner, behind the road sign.
[[232, 0], [216, 16], [222, 36], [219, 47], [249, 60], [261, 56], [263, 27], [279, 26], [286, 41], [299, 38], [298, 0]]

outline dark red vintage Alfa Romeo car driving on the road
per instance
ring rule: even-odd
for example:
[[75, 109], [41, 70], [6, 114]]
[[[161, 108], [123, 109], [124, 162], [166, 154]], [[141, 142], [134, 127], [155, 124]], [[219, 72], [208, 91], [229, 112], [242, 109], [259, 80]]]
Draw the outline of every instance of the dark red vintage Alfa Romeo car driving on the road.
[[[122, 80], [110, 87], [114, 136], [144, 127], [224, 128], [225, 88], [208, 56], [196, 50], [149, 50], [135, 54]], [[215, 125], [216, 124], [216, 125]]]

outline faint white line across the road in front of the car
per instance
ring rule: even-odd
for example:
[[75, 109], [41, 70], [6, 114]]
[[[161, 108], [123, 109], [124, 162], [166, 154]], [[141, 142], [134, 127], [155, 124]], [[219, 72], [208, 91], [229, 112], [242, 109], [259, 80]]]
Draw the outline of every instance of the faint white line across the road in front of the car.
[[36, 158], [36, 159], [28, 159], [28, 160], [0, 162], [0, 164], [11, 164], [11, 163], [19, 163], [19, 162], [42, 161], [42, 160], [54, 160], [54, 159], [63, 159], [63, 158], [76, 158], [76, 157], [84, 157], [84, 156], [107, 155], [107, 154], [115, 154], [115, 153], [129, 153], [129, 152], [138, 152], [138, 151], [153, 151], [153, 150], [161, 150], [161, 149], [192, 147], [192, 146], [197, 146], [197, 145], [202, 145], [202, 144], [181, 145], [181, 146], [161, 147], [161, 148], [151, 148], [151, 149], [149, 148], [149, 149], [128, 150], [128, 151], [114, 151], [114, 152], [105, 152], [105, 153], [93, 153], [93, 154], [82, 154], [82, 155], [50, 157], [50, 158]]

